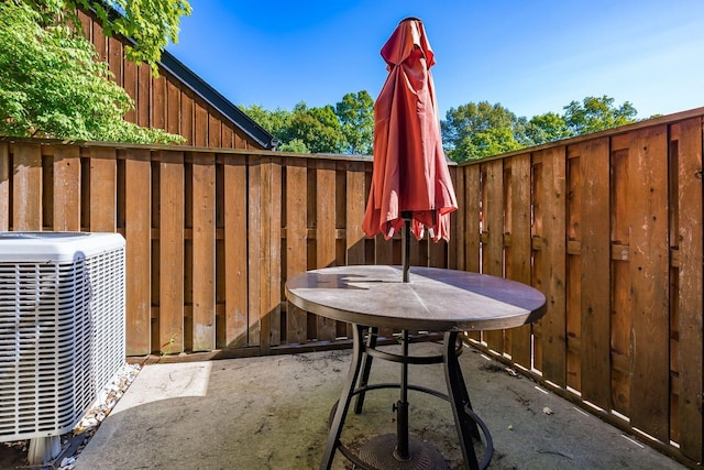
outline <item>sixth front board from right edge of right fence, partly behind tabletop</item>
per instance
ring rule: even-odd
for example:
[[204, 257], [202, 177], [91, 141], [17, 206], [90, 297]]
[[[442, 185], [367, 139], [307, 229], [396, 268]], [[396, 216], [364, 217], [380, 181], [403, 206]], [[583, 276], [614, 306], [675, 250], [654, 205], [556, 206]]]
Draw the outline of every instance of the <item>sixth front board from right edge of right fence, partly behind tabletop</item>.
[[[488, 243], [482, 251], [484, 274], [503, 277], [504, 275], [504, 162], [497, 160], [486, 165], [486, 200], [484, 212], [484, 232]], [[488, 348], [504, 351], [504, 330], [484, 331]]]

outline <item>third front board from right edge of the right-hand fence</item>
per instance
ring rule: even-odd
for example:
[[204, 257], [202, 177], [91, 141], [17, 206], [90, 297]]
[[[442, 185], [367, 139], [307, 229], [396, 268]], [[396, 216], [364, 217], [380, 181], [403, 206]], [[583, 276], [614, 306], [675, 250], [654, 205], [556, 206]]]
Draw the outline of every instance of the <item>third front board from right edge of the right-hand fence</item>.
[[608, 138], [581, 144], [582, 396], [610, 409], [609, 146]]

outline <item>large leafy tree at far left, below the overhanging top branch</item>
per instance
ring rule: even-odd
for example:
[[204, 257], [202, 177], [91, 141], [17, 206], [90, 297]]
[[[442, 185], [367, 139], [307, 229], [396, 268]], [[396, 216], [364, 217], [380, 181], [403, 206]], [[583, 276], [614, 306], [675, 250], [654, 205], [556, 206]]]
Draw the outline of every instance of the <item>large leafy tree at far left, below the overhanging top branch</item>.
[[0, 134], [140, 143], [184, 141], [163, 130], [124, 121], [133, 102], [110, 80], [108, 66], [97, 61], [92, 44], [82, 32], [53, 22], [54, 15], [30, 3], [0, 2]]

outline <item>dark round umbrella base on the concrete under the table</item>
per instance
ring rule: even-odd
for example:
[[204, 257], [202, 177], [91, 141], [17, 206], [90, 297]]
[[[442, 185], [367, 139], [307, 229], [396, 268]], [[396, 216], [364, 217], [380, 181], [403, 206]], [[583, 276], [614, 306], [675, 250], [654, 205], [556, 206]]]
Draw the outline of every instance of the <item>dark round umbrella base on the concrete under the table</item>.
[[397, 436], [383, 434], [367, 440], [360, 448], [360, 460], [366, 466], [385, 470], [446, 470], [448, 462], [433, 445], [409, 436], [410, 459], [398, 460], [395, 455]]

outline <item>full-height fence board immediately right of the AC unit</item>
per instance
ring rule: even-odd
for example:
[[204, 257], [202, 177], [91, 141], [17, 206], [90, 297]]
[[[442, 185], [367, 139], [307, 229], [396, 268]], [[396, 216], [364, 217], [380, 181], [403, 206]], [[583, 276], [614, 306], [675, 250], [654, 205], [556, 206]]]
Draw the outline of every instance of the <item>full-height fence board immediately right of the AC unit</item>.
[[124, 162], [127, 241], [127, 353], [152, 352], [152, 163], [147, 150], [132, 150]]

